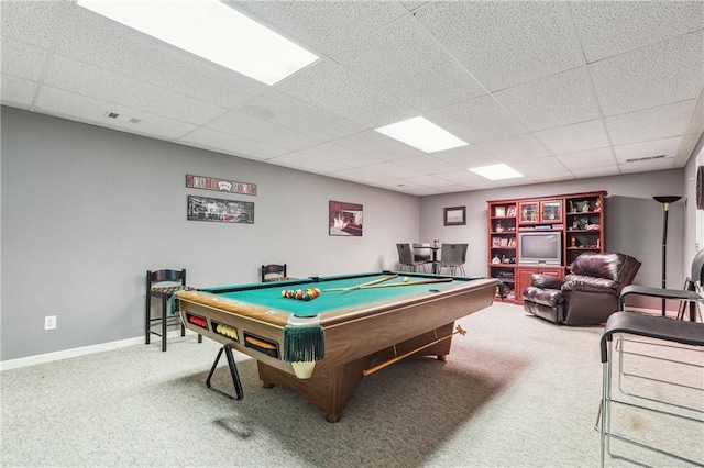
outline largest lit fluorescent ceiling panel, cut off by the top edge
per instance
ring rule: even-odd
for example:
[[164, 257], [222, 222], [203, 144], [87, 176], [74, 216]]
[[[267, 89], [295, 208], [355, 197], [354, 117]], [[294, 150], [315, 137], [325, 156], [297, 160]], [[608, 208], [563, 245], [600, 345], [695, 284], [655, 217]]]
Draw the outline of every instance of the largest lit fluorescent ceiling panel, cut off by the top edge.
[[319, 58], [218, 0], [77, 4], [266, 85]]

